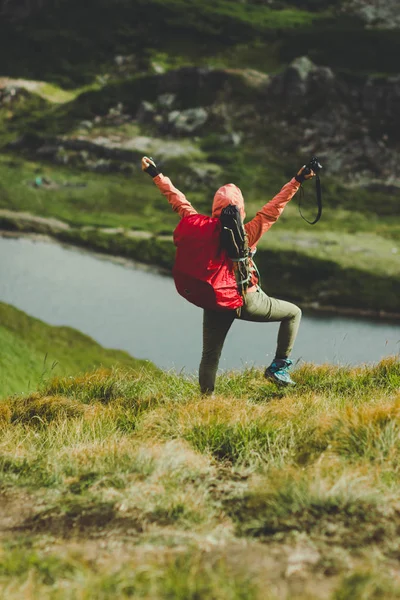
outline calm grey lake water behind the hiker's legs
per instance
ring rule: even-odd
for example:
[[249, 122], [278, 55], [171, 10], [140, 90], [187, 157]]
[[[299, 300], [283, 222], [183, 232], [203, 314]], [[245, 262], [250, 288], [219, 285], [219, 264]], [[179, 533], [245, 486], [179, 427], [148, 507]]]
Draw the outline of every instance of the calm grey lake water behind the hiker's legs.
[[[160, 367], [198, 368], [202, 311], [176, 293], [171, 278], [137, 265], [51, 242], [0, 237], [0, 301]], [[275, 323], [235, 322], [221, 368], [265, 365], [277, 330]], [[399, 351], [399, 323], [304, 315], [293, 358], [354, 365]]]

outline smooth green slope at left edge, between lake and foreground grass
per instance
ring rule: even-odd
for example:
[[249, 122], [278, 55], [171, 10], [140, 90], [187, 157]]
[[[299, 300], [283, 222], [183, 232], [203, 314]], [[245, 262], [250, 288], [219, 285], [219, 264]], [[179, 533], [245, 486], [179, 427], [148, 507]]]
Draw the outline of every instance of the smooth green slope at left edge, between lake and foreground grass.
[[0, 397], [28, 392], [49, 377], [120, 365], [156, 368], [126, 352], [107, 350], [70, 327], [53, 327], [0, 302]]

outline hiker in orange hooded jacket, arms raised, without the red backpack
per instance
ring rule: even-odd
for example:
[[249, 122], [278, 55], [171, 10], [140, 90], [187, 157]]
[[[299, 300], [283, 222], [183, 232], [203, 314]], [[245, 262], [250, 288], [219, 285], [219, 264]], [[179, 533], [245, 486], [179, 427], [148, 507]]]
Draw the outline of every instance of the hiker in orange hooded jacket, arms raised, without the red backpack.
[[[160, 192], [167, 198], [172, 209], [180, 217], [197, 214], [186, 196], [180, 192], [168, 177], [160, 173], [151, 158], [142, 158], [142, 170], [148, 173]], [[286, 204], [293, 198], [305, 179], [315, 173], [303, 166], [293, 179], [283, 186], [281, 191], [267, 202], [256, 216], [244, 225], [251, 254], [254, 255], [257, 243], [266, 231], [282, 214]], [[222, 186], [215, 194], [212, 205], [212, 217], [219, 217], [223, 208], [229, 204], [238, 207], [244, 220], [244, 200], [242, 192], [233, 183]], [[235, 319], [259, 323], [280, 322], [275, 358], [265, 370], [265, 377], [280, 385], [295, 385], [289, 374], [292, 361], [289, 356], [300, 325], [301, 310], [295, 304], [271, 298], [258, 285], [257, 270], [250, 259], [251, 280], [247, 289], [244, 305], [240, 314], [235, 310], [204, 310], [203, 353], [199, 368], [199, 383], [203, 394], [212, 394], [218, 370], [219, 359], [227, 333]]]

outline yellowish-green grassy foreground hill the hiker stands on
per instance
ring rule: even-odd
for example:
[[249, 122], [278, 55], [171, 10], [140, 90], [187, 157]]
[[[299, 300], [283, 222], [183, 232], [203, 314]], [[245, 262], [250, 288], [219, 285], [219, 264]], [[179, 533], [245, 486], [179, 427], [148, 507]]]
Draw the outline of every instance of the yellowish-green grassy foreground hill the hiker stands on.
[[0, 403], [0, 595], [400, 598], [400, 363], [99, 370]]

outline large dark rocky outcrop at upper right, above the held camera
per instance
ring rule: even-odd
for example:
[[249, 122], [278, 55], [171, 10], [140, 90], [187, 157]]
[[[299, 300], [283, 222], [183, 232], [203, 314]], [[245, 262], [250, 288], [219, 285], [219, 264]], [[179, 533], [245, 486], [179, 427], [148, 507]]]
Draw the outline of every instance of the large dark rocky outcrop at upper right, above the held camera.
[[[271, 77], [264, 97], [264, 127], [281, 151], [317, 154], [324, 175], [352, 186], [400, 178], [400, 76], [334, 75], [300, 57]], [[286, 125], [284, 125], [286, 123]]]

